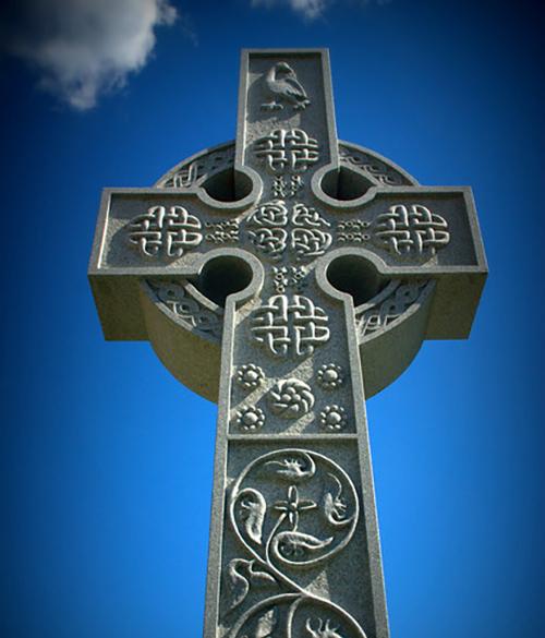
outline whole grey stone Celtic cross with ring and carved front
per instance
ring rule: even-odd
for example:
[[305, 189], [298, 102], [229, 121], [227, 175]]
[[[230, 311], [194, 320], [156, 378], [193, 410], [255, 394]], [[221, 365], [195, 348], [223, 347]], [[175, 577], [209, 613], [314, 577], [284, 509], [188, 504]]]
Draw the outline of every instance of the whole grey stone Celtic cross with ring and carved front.
[[106, 338], [219, 406], [205, 638], [388, 637], [365, 397], [485, 277], [469, 188], [338, 141], [325, 50], [243, 51], [237, 141], [105, 190]]

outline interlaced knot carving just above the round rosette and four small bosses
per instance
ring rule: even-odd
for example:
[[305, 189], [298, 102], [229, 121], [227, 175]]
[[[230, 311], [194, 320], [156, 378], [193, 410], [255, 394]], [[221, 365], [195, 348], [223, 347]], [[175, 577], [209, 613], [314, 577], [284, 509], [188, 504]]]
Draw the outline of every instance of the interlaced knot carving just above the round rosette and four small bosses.
[[308, 357], [329, 340], [328, 317], [302, 294], [275, 294], [252, 317], [252, 336], [275, 357]]

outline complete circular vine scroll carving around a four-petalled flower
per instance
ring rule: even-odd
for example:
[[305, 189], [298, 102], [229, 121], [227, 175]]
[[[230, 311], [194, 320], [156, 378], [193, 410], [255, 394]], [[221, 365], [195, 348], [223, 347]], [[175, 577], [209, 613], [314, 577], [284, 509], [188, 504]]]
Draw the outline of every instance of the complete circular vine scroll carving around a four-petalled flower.
[[[288, 485], [283, 481], [270, 483], [278, 494], [276, 498], [269, 493], [266, 499], [254, 486], [267, 473], [280, 476], [288, 482]], [[335, 494], [330, 490], [324, 492], [320, 506], [307, 497], [306, 493], [316, 493], [331, 481]], [[339, 510], [341, 493], [343, 509]], [[239, 477], [231, 495], [231, 521], [237, 534], [254, 549], [253, 554], [261, 556], [271, 574], [278, 574], [275, 566], [278, 562], [310, 565], [337, 553], [352, 537], [358, 508], [355, 489], [339, 466], [317, 453], [302, 449], [282, 449], [259, 457]], [[322, 531], [320, 515], [326, 523]], [[352, 523], [350, 528], [329, 523], [329, 519], [338, 522], [343, 518]], [[263, 553], [257, 547], [262, 547]], [[286, 552], [298, 555], [298, 559], [288, 557]]]

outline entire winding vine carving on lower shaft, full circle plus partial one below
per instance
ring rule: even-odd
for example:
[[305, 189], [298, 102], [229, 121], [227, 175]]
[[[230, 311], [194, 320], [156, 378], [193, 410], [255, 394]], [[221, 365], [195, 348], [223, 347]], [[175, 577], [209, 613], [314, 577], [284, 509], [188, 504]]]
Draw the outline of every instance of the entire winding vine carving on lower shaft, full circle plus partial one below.
[[[282, 481], [267, 481], [268, 472]], [[258, 484], [266, 485], [265, 495], [255, 487]], [[229, 516], [251, 555], [234, 558], [227, 567], [231, 605], [241, 604], [251, 587], [267, 585], [280, 591], [264, 593], [246, 607], [230, 637], [274, 638], [281, 630], [278, 636], [295, 638], [300, 627], [308, 638], [366, 638], [348, 612], [303, 586], [305, 568], [342, 551], [358, 523], [354, 484], [337, 464], [304, 449], [263, 455], [235, 480]], [[349, 634], [341, 636], [340, 627]]]

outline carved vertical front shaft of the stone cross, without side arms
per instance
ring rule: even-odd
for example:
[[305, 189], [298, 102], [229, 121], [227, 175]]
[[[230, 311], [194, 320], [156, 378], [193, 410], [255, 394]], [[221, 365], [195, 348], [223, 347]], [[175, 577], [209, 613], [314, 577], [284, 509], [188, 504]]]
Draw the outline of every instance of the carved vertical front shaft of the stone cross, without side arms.
[[317, 266], [334, 221], [310, 205], [338, 168], [327, 53], [246, 53], [237, 143], [263, 183], [246, 218], [263, 281], [226, 308], [205, 638], [386, 638], [353, 304]]

